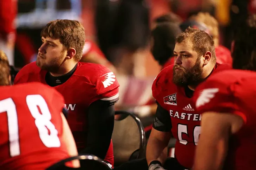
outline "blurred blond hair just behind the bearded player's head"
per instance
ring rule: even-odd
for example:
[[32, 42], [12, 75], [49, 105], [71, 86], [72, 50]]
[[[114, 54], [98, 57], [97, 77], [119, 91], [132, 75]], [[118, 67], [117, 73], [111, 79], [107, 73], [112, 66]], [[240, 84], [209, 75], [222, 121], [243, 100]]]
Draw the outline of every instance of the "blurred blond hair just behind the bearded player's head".
[[208, 12], [199, 12], [197, 15], [189, 17], [189, 20], [195, 20], [196, 22], [205, 24], [210, 31], [211, 37], [213, 37], [215, 45], [219, 44], [219, 23]]

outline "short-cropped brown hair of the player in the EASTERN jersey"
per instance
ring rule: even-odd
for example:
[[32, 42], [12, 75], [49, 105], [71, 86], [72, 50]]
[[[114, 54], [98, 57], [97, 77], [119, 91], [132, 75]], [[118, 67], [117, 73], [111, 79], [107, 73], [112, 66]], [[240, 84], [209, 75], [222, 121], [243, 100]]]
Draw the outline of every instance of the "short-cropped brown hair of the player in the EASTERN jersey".
[[216, 61], [216, 54], [214, 48], [213, 38], [206, 32], [188, 27], [184, 32], [179, 34], [176, 38], [176, 43], [180, 44], [185, 41], [190, 41], [193, 44], [193, 50], [197, 52], [198, 56], [204, 55], [207, 51], [211, 52], [212, 61]]

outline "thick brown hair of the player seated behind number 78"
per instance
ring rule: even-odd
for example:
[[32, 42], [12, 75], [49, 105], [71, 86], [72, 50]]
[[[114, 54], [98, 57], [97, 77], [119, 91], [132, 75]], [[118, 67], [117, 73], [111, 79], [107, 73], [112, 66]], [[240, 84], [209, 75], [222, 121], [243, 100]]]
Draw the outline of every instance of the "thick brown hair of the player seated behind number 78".
[[80, 61], [85, 45], [85, 30], [77, 20], [56, 19], [42, 29], [41, 37], [59, 39], [66, 49], [76, 49], [74, 59]]

